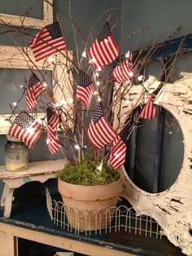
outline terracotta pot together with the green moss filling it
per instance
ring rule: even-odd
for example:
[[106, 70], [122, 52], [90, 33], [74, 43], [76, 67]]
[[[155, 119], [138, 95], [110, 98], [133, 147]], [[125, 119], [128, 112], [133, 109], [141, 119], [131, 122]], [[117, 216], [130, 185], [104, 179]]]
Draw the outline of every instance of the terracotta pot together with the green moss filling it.
[[91, 157], [69, 163], [57, 175], [68, 222], [78, 230], [96, 230], [112, 221], [122, 188], [122, 178], [103, 160]]

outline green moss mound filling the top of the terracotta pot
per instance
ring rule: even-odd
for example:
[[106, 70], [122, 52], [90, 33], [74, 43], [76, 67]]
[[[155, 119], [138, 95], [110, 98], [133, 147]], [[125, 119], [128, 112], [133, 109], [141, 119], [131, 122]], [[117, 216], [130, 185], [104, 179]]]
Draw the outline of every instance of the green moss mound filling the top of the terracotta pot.
[[112, 166], [108, 166], [107, 161], [103, 161], [102, 171], [96, 170], [98, 164], [98, 161], [85, 157], [82, 164], [74, 162], [65, 166], [57, 177], [67, 183], [85, 186], [104, 185], [120, 179], [120, 174]]

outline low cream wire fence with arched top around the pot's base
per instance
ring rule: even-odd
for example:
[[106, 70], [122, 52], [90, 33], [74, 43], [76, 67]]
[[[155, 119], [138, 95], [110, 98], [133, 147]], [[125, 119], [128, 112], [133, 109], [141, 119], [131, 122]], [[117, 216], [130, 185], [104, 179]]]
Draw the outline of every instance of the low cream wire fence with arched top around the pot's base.
[[52, 222], [62, 229], [85, 236], [110, 232], [129, 232], [135, 235], [162, 238], [162, 230], [155, 219], [146, 215], [137, 216], [133, 207], [125, 205], [110, 209], [90, 210], [86, 212], [77, 209], [66, 209], [61, 201], [51, 199], [46, 192], [47, 209]]

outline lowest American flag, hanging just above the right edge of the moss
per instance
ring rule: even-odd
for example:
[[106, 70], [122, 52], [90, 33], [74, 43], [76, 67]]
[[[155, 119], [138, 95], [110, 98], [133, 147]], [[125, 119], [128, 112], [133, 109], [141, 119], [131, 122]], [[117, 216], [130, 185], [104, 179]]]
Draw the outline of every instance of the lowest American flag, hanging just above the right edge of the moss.
[[129, 134], [129, 126], [125, 126], [124, 130], [120, 132], [120, 135], [112, 142], [112, 150], [109, 161], [111, 165], [116, 169], [120, 169], [120, 166], [124, 165], [126, 157], [126, 140]]

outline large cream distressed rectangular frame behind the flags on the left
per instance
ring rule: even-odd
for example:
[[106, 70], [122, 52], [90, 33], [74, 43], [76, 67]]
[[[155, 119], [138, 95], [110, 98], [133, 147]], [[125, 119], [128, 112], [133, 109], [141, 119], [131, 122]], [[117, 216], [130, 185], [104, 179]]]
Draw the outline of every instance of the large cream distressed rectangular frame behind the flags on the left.
[[[50, 64], [46, 61], [36, 63], [33, 53], [28, 47], [0, 46], [0, 68], [33, 68], [52, 71], [52, 77], [54, 78], [52, 86], [55, 102], [62, 102], [62, 100], [66, 102], [67, 99], [73, 95], [72, 75], [68, 74], [68, 68], [66, 68], [66, 66], [69, 66], [69, 64], [67, 64], [69, 60], [72, 60], [72, 52], [65, 51], [64, 55], [62, 53], [55, 55], [55, 64]], [[55, 83], [55, 80], [57, 80], [58, 83]], [[68, 113], [72, 114], [72, 104], [69, 103], [66, 109]], [[38, 117], [44, 116], [45, 113], [38, 114]], [[9, 127], [11, 126], [11, 124], [6, 121], [7, 117], [10, 117], [10, 115], [0, 113], [0, 135], [7, 135]]]

